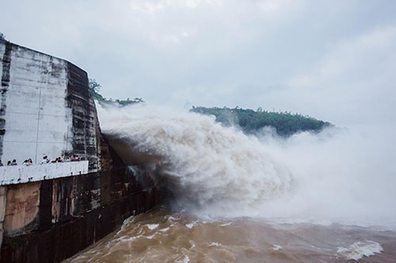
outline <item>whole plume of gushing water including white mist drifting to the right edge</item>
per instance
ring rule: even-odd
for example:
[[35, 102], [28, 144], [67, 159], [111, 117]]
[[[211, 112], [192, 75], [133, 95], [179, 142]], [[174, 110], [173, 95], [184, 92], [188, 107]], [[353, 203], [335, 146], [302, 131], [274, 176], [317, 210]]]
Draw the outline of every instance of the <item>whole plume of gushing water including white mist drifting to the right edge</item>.
[[[391, 132], [246, 136], [213, 117], [159, 107], [99, 107], [102, 132], [156, 168], [177, 206], [209, 217], [394, 225]], [[124, 153], [125, 155], [125, 153]], [[124, 156], [125, 157], [125, 156]], [[160, 179], [156, 179], [159, 182]]]

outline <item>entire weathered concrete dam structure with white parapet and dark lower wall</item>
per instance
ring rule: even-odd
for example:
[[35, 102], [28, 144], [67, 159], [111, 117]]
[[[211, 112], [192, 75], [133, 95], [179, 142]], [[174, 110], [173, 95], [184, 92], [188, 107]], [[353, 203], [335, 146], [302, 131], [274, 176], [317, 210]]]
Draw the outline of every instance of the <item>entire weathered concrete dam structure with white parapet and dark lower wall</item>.
[[136, 179], [152, 171], [102, 135], [87, 72], [4, 39], [0, 59], [1, 262], [62, 261], [155, 206], [152, 182]]

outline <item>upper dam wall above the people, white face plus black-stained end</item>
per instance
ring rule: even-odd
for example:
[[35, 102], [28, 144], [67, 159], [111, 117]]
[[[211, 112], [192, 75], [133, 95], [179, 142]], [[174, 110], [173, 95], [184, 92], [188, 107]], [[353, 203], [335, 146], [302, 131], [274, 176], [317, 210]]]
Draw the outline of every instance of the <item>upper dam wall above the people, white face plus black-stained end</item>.
[[[0, 40], [0, 159], [77, 154], [100, 170], [99, 123], [88, 74], [75, 65]], [[99, 132], [100, 133], [100, 132]]]

